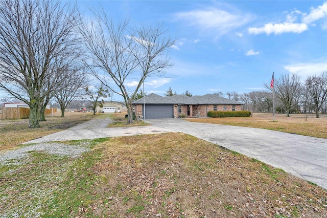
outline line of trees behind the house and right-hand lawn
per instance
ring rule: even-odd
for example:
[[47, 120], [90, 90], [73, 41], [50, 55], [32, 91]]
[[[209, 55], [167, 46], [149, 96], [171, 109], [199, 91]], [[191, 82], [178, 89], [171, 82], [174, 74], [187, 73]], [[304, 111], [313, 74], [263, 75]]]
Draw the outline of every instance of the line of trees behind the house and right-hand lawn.
[[[327, 113], [327, 72], [308, 76], [304, 81], [297, 74], [284, 74], [274, 79], [272, 85], [264, 83], [264, 87], [267, 91], [217, 92], [213, 95], [243, 103], [242, 110], [253, 113], [272, 113], [274, 88], [275, 112], [277, 113], [285, 113], [287, 117], [290, 116], [290, 113], [315, 113], [317, 118], [319, 118], [319, 113]], [[165, 96], [176, 94], [169, 87]], [[186, 90], [183, 95], [192, 96], [192, 93]], [[143, 97], [143, 95], [139, 97]]]

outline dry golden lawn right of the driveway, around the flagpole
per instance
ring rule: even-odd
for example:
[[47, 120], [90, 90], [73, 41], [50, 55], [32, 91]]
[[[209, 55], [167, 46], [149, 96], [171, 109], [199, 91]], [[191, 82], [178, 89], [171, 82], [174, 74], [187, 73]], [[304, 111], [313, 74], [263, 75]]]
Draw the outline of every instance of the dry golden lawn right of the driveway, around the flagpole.
[[252, 117], [195, 118], [191, 122], [212, 123], [233, 126], [264, 128], [285, 133], [294, 133], [327, 139], [327, 115], [293, 115], [276, 114], [275, 121], [271, 114], [253, 114]]

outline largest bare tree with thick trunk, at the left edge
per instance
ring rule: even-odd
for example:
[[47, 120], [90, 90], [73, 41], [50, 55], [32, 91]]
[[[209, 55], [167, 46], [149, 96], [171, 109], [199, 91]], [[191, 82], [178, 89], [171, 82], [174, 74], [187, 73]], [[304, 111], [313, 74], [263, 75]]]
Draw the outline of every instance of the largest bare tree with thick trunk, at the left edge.
[[29, 127], [39, 127], [41, 102], [59, 83], [54, 63], [78, 46], [74, 14], [61, 2], [0, 4], [0, 88], [30, 106]]

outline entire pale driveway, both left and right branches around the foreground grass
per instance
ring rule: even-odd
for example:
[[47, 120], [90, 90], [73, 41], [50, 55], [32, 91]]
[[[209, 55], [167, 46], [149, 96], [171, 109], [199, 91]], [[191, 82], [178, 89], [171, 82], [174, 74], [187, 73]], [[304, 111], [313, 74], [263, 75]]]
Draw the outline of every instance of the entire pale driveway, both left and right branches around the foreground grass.
[[151, 119], [152, 126], [106, 128], [110, 119], [90, 120], [28, 143], [181, 132], [256, 158], [327, 189], [327, 139], [267, 129]]

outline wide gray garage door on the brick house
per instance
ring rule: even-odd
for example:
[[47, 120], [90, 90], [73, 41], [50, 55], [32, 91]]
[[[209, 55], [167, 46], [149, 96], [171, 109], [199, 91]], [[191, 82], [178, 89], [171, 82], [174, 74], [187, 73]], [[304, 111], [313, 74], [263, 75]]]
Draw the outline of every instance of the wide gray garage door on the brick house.
[[[142, 109], [144, 109], [144, 106], [142, 106]], [[169, 105], [146, 104], [145, 105], [145, 119], [162, 119], [162, 118], [173, 118], [173, 117], [174, 117], [174, 109], [172, 104]]]

